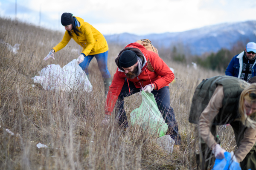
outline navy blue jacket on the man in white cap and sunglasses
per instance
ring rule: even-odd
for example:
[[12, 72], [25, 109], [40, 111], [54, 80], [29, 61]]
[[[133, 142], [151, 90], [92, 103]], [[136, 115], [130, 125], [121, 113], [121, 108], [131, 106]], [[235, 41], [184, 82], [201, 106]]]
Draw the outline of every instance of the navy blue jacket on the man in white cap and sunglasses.
[[[233, 76], [233, 77], [238, 77], [240, 78], [241, 72], [242, 72], [242, 67], [243, 67], [243, 56], [244, 56], [244, 51], [241, 52], [240, 54], [234, 56], [229, 65], [227, 66], [226, 69], [226, 76]], [[256, 62], [253, 64], [252, 68], [252, 77], [256, 76]], [[240, 65], [241, 64], [241, 65]]]

